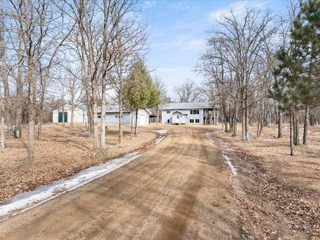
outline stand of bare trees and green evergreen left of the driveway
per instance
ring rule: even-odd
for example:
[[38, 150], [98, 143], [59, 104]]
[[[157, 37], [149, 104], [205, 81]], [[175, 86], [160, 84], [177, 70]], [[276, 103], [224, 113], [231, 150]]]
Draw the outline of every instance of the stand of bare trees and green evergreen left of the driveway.
[[28, 155], [32, 156], [48, 102], [56, 101], [55, 106], [62, 108], [70, 103], [71, 111], [80, 103], [87, 106], [93, 151], [106, 148], [105, 115], [101, 114], [99, 130], [97, 108], [105, 112], [108, 92], [113, 92], [111, 100], [119, 105], [120, 143], [123, 107], [137, 111], [158, 105], [160, 92], [143, 60], [147, 24], [135, 17], [140, 11], [137, 3], [0, 2], [1, 148], [5, 147], [4, 124], [6, 137], [19, 138], [22, 124], [27, 123]]

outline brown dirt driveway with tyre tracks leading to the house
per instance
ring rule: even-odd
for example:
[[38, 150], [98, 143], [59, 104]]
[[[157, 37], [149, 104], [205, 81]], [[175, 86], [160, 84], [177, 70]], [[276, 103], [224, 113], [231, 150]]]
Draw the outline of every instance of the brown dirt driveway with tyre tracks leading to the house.
[[231, 171], [206, 128], [166, 128], [127, 165], [0, 222], [0, 239], [242, 239]]

